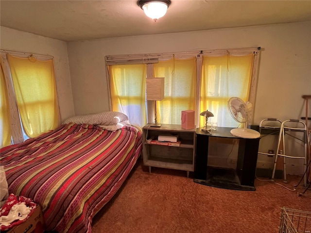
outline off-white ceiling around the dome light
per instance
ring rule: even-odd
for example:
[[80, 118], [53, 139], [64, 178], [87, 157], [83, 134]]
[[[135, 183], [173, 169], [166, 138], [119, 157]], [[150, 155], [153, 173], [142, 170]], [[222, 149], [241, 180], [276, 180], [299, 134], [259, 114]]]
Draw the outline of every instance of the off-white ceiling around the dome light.
[[0, 25], [64, 41], [311, 21], [311, 0], [172, 0], [154, 22], [137, 0], [0, 0]]

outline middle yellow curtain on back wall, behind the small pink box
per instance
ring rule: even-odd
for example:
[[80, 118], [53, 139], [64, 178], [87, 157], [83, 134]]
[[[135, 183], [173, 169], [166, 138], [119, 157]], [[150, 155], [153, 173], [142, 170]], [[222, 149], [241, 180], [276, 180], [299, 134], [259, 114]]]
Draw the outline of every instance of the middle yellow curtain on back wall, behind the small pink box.
[[164, 100], [156, 102], [156, 116], [163, 124], [181, 124], [181, 111], [195, 110], [196, 59], [159, 61], [155, 77], [164, 77]]

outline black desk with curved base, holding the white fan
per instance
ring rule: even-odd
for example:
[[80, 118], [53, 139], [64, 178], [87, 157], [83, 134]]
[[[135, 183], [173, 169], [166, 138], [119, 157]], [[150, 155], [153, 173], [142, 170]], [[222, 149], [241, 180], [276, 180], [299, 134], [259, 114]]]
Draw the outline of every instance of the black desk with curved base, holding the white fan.
[[[219, 188], [254, 191], [260, 138], [236, 137], [230, 133], [231, 129], [233, 128], [217, 127], [211, 134], [201, 131], [201, 128], [196, 129], [194, 182]], [[239, 139], [236, 169], [207, 166], [209, 137]]]

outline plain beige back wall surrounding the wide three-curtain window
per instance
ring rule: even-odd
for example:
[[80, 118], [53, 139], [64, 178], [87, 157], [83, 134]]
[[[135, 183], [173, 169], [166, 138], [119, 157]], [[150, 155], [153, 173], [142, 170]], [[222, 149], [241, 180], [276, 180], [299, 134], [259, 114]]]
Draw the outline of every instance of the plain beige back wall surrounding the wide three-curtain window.
[[[75, 113], [84, 115], [108, 110], [106, 55], [260, 46], [253, 124], [267, 117], [298, 119], [305, 114], [301, 96], [311, 94], [310, 41], [311, 22], [302, 22], [69, 42]], [[294, 142], [291, 145], [296, 154], [303, 152], [300, 145]], [[260, 144], [260, 150], [268, 151], [271, 147], [271, 143], [264, 141]], [[302, 172], [301, 160], [288, 159], [287, 163], [289, 173]], [[259, 156], [259, 166], [271, 167], [271, 158]]]

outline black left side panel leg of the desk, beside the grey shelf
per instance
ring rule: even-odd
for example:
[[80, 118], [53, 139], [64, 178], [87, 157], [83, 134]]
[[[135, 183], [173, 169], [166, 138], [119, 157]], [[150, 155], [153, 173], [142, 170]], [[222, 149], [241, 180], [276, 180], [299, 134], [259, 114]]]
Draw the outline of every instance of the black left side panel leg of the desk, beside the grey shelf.
[[194, 179], [197, 180], [207, 179], [208, 138], [205, 135], [196, 135]]

